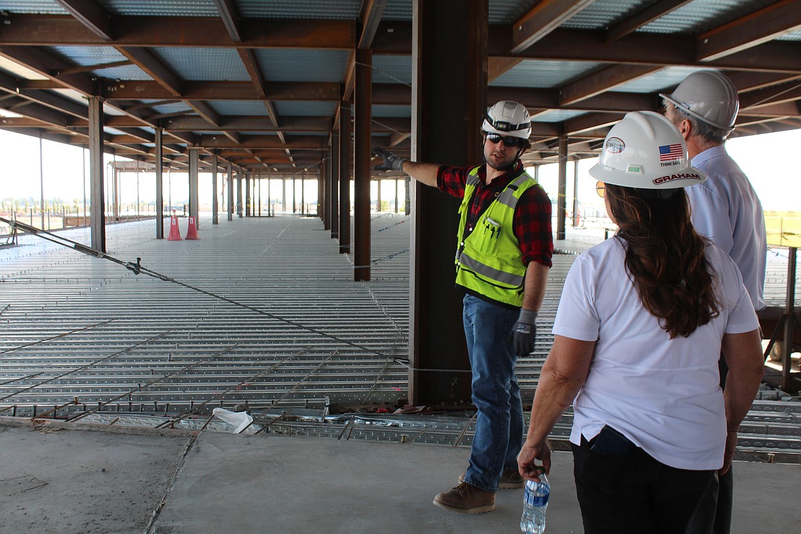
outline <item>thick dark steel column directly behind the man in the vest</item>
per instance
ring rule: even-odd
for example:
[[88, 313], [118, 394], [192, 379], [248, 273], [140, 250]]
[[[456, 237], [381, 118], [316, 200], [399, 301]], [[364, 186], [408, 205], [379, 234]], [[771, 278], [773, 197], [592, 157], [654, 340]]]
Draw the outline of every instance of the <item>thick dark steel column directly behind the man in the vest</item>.
[[[488, 0], [413, 3], [412, 159], [481, 163], [487, 105]], [[443, 28], [458, 28], [443, 31]], [[453, 81], [458, 80], [458, 90]], [[454, 288], [459, 200], [414, 184], [411, 323], [413, 404], [466, 403], [470, 365]]]

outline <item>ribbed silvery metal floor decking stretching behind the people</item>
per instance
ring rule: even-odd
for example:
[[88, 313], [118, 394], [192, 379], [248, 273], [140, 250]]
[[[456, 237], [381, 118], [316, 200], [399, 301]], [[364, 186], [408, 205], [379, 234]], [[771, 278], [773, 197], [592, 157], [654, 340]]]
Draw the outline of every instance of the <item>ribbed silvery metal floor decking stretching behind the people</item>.
[[[22, 235], [0, 248], [0, 415], [225, 429], [211, 408], [247, 403], [271, 432], [467, 445], [470, 412], [373, 413], [407, 397], [410, 226], [373, 215], [368, 283], [352, 281], [352, 255], [320, 219], [291, 214], [201, 217], [196, 241], [156, 240], [152, 220], [107, 226], [109, 255], [140, 257], [184, 285]], [[59, 235], [89, 243], [86, 228]], [[566, 273], [603, 231], [569, 237], [556, 243], [564, 253], [554, 256], [537, 349], [517, 363], [524, 402]], [[768, 298], [781, 305], [786, 259], [771, 254]], [[348, 415], [332, 413], [337, 404]], [[752, 412], [744, 446], [801, 452], [801, 403], [761, 400]], [[569, 427], [567, 414], [554, 434]]]

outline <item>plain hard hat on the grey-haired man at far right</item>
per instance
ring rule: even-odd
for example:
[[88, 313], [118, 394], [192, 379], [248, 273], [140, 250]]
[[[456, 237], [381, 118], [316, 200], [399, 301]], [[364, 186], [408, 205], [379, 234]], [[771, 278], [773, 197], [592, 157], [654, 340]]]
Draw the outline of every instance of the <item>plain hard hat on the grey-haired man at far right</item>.
[[734, 130], [740, 107], [737, 88], [717, 70], [696, 70], [664, 98], [686, 114], [720, 130]]

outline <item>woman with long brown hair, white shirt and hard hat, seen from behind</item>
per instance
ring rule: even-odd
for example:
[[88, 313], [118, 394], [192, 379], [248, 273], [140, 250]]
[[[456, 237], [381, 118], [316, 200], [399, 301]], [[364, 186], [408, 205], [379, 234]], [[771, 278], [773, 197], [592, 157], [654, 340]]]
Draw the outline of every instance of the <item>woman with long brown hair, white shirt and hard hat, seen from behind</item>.
[[706, 177], [670, 121], [626, 114], [590, 175], [618, 232], [570, 269], [518, 465], [549, 472], [545, 438], [572, 403], [585, 532], [685, 532], [759, 388], [759, 323], [735, 263], [692, 227], [683, 187]]

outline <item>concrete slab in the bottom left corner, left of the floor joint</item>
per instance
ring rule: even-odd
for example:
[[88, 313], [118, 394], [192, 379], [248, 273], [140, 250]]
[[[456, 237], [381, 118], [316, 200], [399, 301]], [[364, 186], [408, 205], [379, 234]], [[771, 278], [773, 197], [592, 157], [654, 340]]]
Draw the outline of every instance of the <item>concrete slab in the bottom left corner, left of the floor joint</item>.
[[191, 436], [0, 427], [0, 532], [145, 532]]

